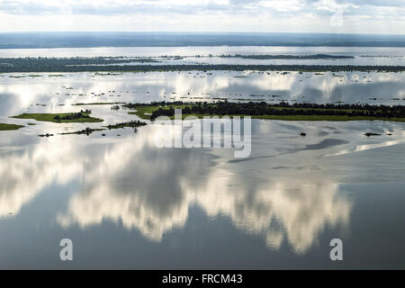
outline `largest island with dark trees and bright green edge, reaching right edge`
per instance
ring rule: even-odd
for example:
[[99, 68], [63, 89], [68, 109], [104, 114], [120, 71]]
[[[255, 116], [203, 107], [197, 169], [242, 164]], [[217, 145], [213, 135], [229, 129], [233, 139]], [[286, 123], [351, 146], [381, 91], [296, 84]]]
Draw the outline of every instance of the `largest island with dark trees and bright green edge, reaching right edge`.
[[405, 121], [405, 106], [371, 105], [349, 103], [232, 103], [228, 101], [206, 103], [155, 102], [128, 103], [124, 107], [135, 110], [129, 112], [140, 118], [155, 120], [158, 116], [175, 117], [175, 109], [182, 109], [183, 118], [194, 115], [203, 116], [251, 116], [257, 119], [285, 121], [355, 121], [383, 120]]

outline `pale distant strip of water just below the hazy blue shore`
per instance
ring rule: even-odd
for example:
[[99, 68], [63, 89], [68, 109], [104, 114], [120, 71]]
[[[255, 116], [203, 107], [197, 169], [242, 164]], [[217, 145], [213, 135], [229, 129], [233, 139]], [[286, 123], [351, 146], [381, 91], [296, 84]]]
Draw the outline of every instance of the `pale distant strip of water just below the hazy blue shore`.
[[[313, 55], [353, 56], [342, 59], [246, 59], [219, 58], [220, 55]], [[210, 57], [210, 55], [212, 57]], [[1, 58], [18, 57], [152, 57], [166, 64], [256, 64], [256, 65], [405, 65], [403, 47], [268, 47], [268, 46], [203, 46], [203, 47], [99, 47], [58, 49], [2, 49]], [[163, 56], [186, 57], [177, 60]], [[134, 65], [141, 65], [136, 62]], [[128, 65], [128, 64], [126, 64]]]

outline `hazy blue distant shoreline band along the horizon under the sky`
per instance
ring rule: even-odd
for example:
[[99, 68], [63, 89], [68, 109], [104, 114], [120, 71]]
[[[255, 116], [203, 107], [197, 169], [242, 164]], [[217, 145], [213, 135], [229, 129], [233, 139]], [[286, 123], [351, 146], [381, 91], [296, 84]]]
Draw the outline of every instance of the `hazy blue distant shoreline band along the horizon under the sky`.
[[0, 32], [0, 49], [185, 46], [405, 47], [405, 35], [256, 32]]

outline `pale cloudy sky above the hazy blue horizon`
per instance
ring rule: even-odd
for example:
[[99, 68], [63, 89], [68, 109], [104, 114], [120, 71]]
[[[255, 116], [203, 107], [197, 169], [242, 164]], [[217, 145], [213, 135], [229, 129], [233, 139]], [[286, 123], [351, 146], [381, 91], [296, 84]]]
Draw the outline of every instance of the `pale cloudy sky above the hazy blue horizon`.
[[0, 0], [0, 31], [405, 34], [405, 0]]

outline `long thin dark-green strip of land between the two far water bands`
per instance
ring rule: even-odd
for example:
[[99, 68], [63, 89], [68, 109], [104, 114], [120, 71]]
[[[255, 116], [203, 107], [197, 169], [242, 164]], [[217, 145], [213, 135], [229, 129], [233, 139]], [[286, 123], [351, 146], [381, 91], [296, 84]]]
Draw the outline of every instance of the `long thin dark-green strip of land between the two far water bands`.
[[[249, 57], [249, 56], [247, 56]], [[257, 56], [255, 56], [257, 57]], [[312, 57], [312, 56], [308, 56]], [[0, 58], [0, 73], [38, 72], [158, 72], [158, 71], [377, 71], [401, 72], [405, 66], [356, 66], [356, 65], [234, 65], [234, 64], [154, 64], [156, 59], [142, 59], [145, 64], [133, 64], [130, 58]], [[16, 76], [20, 77], [20, 76]], [[23, 76], [21, 76], [23, 77]]]

